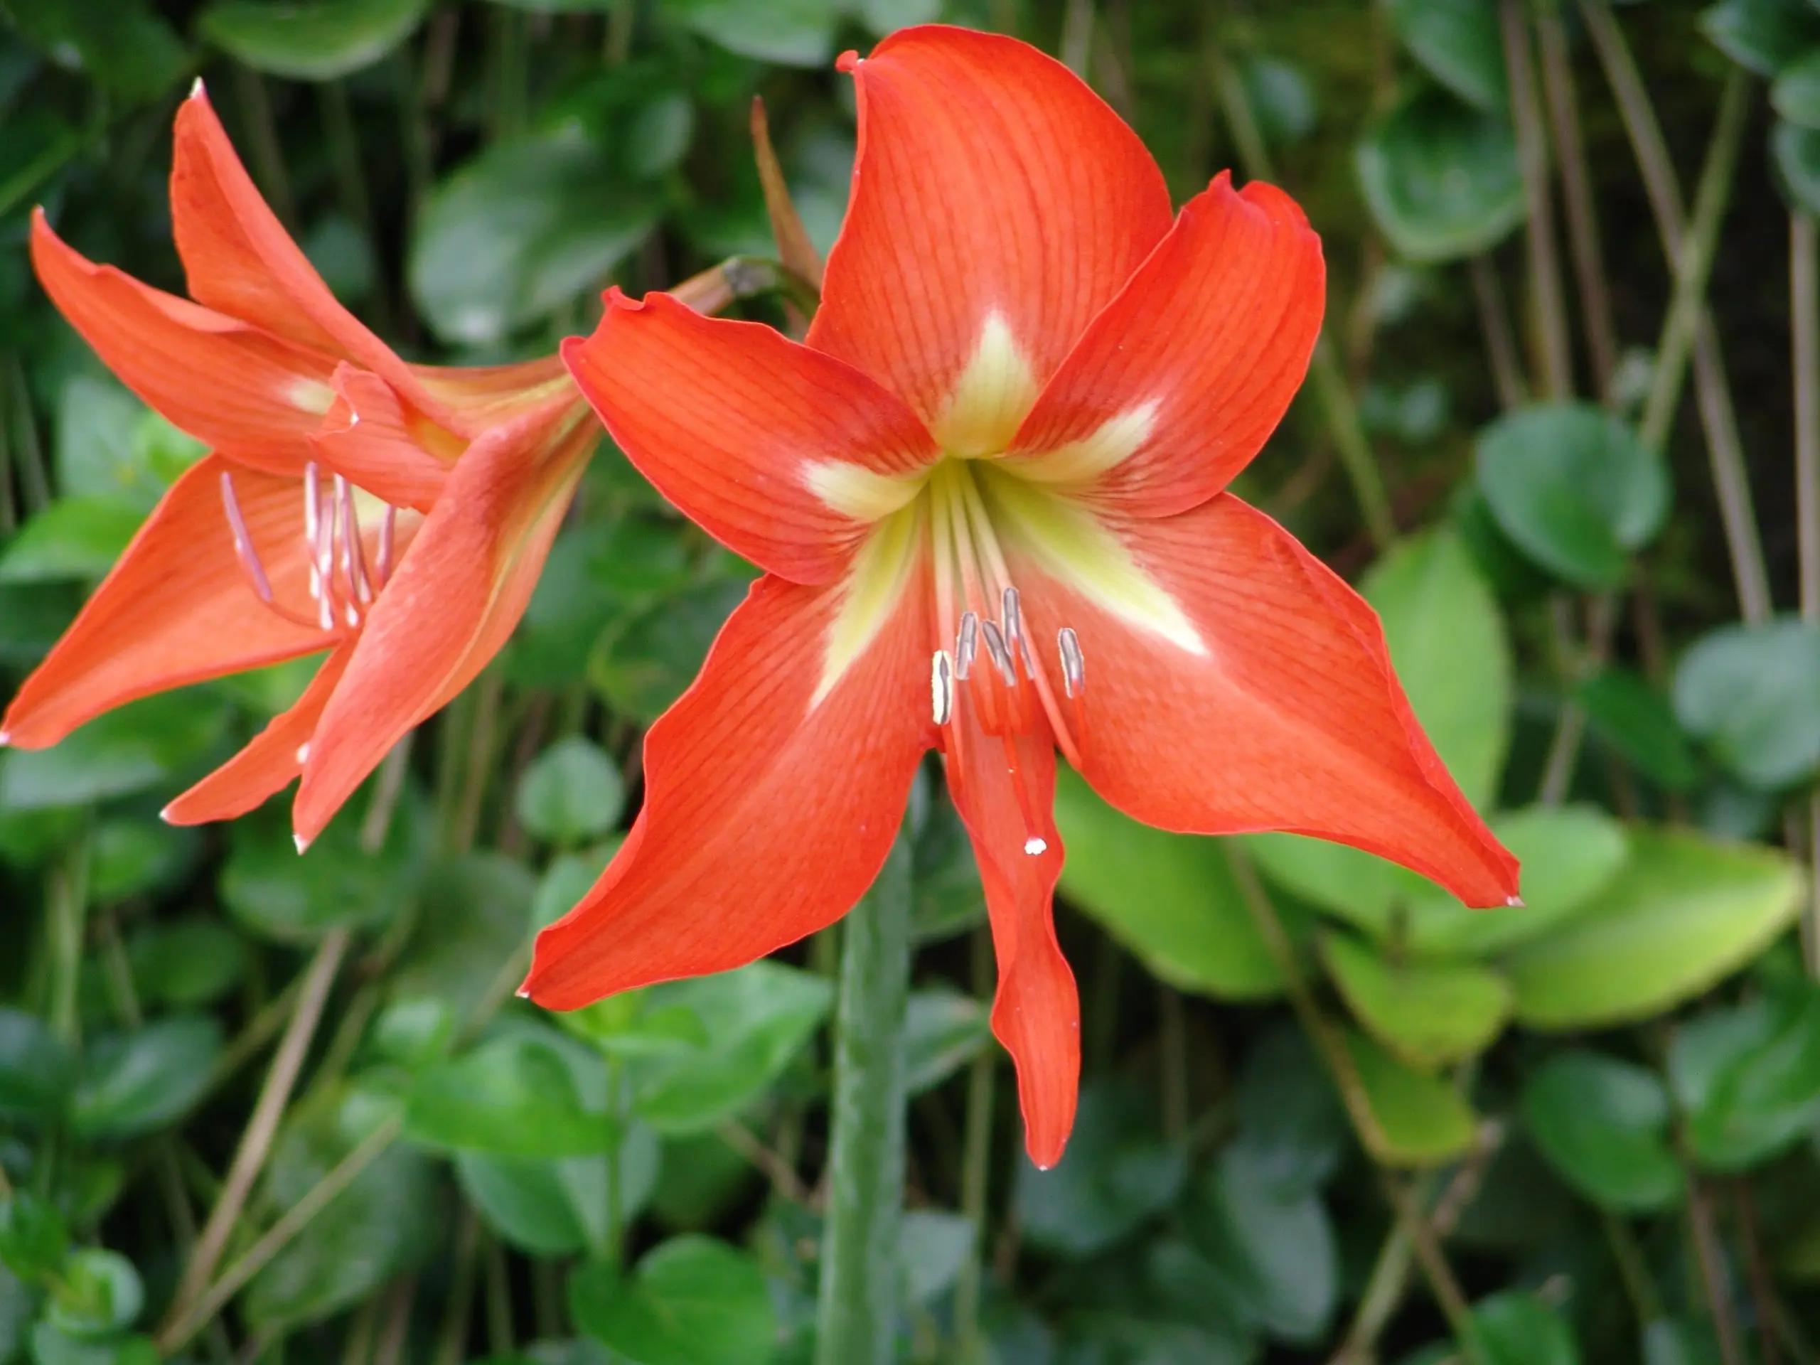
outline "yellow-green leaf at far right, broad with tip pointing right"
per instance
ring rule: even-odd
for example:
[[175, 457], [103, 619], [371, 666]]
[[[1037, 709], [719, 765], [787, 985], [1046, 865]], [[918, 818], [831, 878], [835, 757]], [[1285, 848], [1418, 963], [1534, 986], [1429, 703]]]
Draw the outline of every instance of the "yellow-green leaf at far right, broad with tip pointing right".
[[1782, 852], [1634, 826], [1623, 872], [1511, 956], [1516, 1019], [1602, 1028], [1673, 1008], [1762, 952], [1800, 897], [1800, 866]]

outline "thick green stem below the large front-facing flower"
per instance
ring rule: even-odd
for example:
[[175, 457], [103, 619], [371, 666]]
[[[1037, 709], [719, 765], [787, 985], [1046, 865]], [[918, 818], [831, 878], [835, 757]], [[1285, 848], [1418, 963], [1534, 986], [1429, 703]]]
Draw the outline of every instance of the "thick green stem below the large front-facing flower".
[[908, 994], [910, 846], [899, 837], [841, 945], [815, 1365], [895, 1356]]

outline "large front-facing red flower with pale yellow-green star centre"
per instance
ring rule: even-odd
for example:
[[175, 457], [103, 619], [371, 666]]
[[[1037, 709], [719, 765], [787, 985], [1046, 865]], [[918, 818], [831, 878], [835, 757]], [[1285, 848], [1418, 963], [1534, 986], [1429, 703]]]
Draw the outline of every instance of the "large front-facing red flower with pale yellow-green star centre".
[[1469, 905], [1511, 899], [1516, 861], [1370, 608], [1223, 491], [1321, 326], [1296, 204], [1219, 177], [1172, 222], [1136, 135], [1008, 38], [906, 29], [841, 69], [859, 158], [806, 344], [617, 291], [564, 344], [628, 457], [766, 575], [652, 726], [644, 810], [526, 986], [568, 1008], [821, 928], [937, 746], [1050, 1165], [1079, 1070], [1057, 748], [1150, 824], [1338, 839]]

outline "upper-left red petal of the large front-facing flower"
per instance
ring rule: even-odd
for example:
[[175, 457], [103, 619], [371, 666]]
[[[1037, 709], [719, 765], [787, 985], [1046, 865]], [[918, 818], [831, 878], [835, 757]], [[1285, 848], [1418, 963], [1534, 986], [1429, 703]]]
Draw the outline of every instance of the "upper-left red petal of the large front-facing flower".
[[635, 304], [612, 289], [601, 326], [562, 342], [562, 359], [664, 497], [792, 582], [834, 581], [937, 453], [910, 410], [857, 369], [670, 295]]

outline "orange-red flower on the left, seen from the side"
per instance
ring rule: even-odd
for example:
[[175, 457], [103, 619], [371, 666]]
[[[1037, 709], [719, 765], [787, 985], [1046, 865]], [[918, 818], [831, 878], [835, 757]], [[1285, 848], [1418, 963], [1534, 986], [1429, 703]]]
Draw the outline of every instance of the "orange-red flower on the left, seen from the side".
[[64, 317], [213, 451], [25, 679], [0, 743], [42, 748], [135, 697], [328, 650], [295, 706], [164, 812], [238, 815], [302, 774], [302, 846], [504, 644], [599, 426], [555, 357], [393, 355], [258, 197], [200, 84], [177, 115], [171, 222], [191, 298], [33, 220]]

